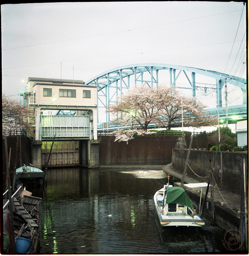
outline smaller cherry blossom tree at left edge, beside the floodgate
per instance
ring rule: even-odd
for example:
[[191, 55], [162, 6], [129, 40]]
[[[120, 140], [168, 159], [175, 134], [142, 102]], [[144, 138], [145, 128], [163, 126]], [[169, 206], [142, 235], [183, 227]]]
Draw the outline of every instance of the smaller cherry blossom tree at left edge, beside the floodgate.
[[16, 99], [2, 95], [2, 134], [10, 130], [23, 129], [29, 132], [32, 129], [28, 117], [33, 117], [32, 111], [21, 105]]

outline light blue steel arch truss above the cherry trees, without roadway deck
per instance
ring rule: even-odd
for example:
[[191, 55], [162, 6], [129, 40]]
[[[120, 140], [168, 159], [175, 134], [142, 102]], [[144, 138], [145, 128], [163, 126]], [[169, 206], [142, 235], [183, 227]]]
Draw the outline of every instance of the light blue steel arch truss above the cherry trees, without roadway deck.
[[[167, 64], [136, 64], [122, 66], [110, 69], [100, 75], [95, 76], [86, 82], [87, 85], [94, 85], [97, 87], [97, 113], [98, 123], [100, 108], [105, 108], [111, 103], [117, 102], [117, 96], [122, 94], [125, 89], [130, 88], [130, 85], [137, 85], [138, 83], [146, 83], [149, 87], [159, 85], [159, 71], [168, 70], [169, 84], [180, 89], [192, 89], [192, 96], [195, 97], [196, 90], [202, 90], [205, 93], [208, 91], [216, 92], [217, 105], [222, 107], [221, 89], [224, 84], [231, 84], [241, 88], [243, 91], [243, 105], [246, 105], [246, 79], [237, 76], [220, 73], [217, 71], [210, 71], [207, 69], [175, 66]], [[146, 79], [144, 76], [146, 73]], [[179, 75], [184, 73], [191, 87], [178, 87], [176, 80]], [[149, 79], [148, 79], [149, 74]], [[216, 80], [214, 87], [201, 86], [201, 83], [196, 82], [196, 74], [209, 76]], [[131, 76], [134, 76], [134, 82], [131, 82]], [[106, 113], [106, 121], [110, 121], [109, 114]]]

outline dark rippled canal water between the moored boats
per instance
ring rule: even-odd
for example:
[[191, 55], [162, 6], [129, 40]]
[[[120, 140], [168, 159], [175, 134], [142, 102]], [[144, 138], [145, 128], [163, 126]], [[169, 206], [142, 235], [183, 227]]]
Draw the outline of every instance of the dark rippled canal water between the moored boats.
[[207, 220], [200, 228], [160, 227], [153, 196], [166, 178], [82, 168], [51, 169], [47, 175], [47, 187], [33, 191], [43, 199], [40, 254], [230, 252], [225, 232]]

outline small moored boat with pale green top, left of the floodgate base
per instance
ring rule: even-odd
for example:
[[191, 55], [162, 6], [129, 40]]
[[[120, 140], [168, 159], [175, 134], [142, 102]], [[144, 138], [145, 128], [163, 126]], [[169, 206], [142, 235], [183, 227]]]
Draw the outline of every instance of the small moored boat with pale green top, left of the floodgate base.
[[24, 186], [36, 186], [42, 185], [44, 178], [44, 173], [42, 170], [35, 168], [33, 166], [20, 167], [16, 169], [16, 184], [23, 184]]

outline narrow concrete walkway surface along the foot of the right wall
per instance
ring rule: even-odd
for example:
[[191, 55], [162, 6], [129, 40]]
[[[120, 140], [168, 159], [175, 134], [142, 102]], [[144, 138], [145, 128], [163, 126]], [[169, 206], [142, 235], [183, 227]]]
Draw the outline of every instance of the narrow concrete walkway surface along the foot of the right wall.
[[[171, 169], [172, 164], [167, 164], [162, 167], [163, 171], [166, 174], [169, 174], [173, 177], [178, 178], [180, 181], [182, 180], [182, 174], [179, 172], [173, 171]], [[200, 181], [195, 180], [194, 178], [185, 177], [185, 183], [200, 183]], [[176, 184], [177, 185], [177, 184]], [[180, 185], [180, 184], [179, 184]], [[201, 190], [201, 188], [193, 188], [193, 190]], [[206, 194], [206, 188], [202, 188], [202, 194]], [[211, 189], [208, 190], [208, 196], [211, 196]], [[240, 209], [240, 195], [231, 193], [225, 190], [219, 190], [217, 186], [214, 186], [214, 201], [219, 201], [223, 204], [223, 206], [233, 209], [237, 212]]]

